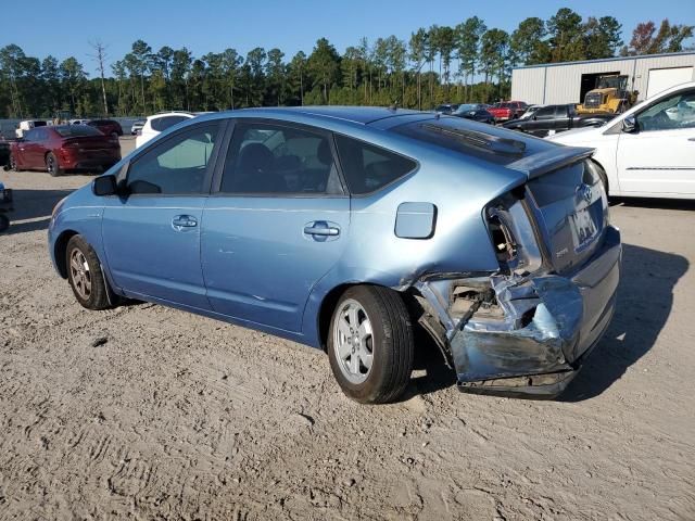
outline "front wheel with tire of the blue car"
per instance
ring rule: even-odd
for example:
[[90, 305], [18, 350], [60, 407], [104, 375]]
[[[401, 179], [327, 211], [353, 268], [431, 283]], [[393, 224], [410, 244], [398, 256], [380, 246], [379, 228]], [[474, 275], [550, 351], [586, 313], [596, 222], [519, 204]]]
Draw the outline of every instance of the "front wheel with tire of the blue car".
[[[74, 263], [77, 260], [77, 263]], [[87, 266], [84, 266], [84, 263]], [[83, 265], [83, 269], [77, 265]], [[67, 281], [77, 302], [87, 309], [108, 309], [113, 307], [109, 302], [110, 288], [106, 287], [101, 263], [94, 250], [81, 236], [73, 236], [67, 241], [65, 250], [65, 266], [67, 267]], [[88, 281], [88, 284], [86, 283]], [[81, 288], [80, 289], [80, 283]], [[84, 288], [89, 287], [89, 291]]]

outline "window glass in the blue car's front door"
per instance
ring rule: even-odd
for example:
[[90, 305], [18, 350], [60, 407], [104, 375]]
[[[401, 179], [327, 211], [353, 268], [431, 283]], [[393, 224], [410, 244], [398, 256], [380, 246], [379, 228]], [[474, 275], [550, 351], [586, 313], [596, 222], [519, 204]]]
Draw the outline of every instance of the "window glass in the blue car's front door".
[[197, 126], [142, 154], [128, 169], [128, 192], [202, 193], [218, 130], [218, 124]]

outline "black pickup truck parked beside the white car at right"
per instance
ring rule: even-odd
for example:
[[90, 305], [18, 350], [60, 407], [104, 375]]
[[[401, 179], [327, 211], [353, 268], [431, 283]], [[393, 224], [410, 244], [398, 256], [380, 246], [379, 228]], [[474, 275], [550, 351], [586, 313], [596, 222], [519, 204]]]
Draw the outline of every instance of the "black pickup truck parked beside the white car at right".
[[[526, 116], [526, 114], [525, 114]], [[580, 116], [574, 104], [542, 106], [532, 115], [511, 119], [503, 124], [505, 128], [520, 130], [544, 138], [557, 132], [579, 127], [599, 127], [615, 117], [614, 114], [591, 114]]]

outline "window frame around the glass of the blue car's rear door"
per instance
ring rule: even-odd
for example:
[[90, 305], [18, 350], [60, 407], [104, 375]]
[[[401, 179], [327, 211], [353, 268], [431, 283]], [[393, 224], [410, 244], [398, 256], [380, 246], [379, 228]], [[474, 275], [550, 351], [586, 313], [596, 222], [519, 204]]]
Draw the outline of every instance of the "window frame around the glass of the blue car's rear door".
[[[225, 139], [222, 142], [223, 147], [219, 148], [219, 161], [217, 165], [215, 165], [215, 175], [213, 177], [211, 195], [217, 198], [266, 198], [266, 199], [342, 199], [349, 198], [350, 192], [348, 190], [348, 185], [345, 183], [345, 179], [343, 176], [343, 170], [340, 165], [340, 156], [338, 154], [338, 148], [336, 147], [336, 141], [333, 138], [333, 132], [320, 127], [313, 127], [311, 125], [304, 125], [301, 123], [288, 122], [285, 119], [271, 119], [266, 117], [236, 117], [227, 120], [227, 134], [225, 135]], [[328, 144], [330, 147], [331, 154], [333, 156], [333, 164], [336, 165], [336, 170], [338, 174], [338, 180], [340, 182], [342, 193], [312, 193], [312, 192], [288, 192], [288, 193], [270, 193], [270, 192], [223, 192], [222, 191], [222, 181], [223, 175], [225, 171], [225, 163], [227, 161], [229, 147], [232, 144], [232, 139], [237, 127], [240, 125], [275, 125], [279, 127], [288, 127], [298, 130], [305, 130], [308, 132], [318, 134], [325, 137], [328, 140]]]

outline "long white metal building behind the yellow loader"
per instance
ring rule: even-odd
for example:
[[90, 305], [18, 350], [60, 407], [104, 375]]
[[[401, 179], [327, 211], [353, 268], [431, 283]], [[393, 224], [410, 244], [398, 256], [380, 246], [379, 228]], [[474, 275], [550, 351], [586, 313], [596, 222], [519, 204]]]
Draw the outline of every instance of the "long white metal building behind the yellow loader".
[[517, 67], [511, 72], [511, 99], [529, 104], [581, 103], [598, 76], [607, 74], [628, 76], [628, 90], [639, 91], [637, 100], [644, 100], [695, 80], [695, 52]]

